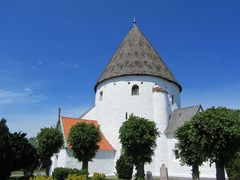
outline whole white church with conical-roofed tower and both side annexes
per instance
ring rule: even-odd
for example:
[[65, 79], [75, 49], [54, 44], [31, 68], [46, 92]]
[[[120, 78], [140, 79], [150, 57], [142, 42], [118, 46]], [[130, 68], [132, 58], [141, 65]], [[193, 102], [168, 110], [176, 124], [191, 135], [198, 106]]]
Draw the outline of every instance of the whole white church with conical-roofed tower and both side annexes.
[[[79, 118], [61, 116], [58, 128], [64, 135], [65, 146], [52, 157], [56, 167], [81, 169], [67, 144], [72, 125], [78, 122], [100, 127], [102, 140], [99, 151], [89, 163], [89, 172], [115, 175], [115, 162], [121, 153], [119, 128], [130, 114], [156, 122], [161, 136], [151, 164], [145, 171], [160, 175], [162, 164], [171, 177], [191, 177], [191, 168], [181, 166], [178, 159], [176, 129], [202, 111], [200, 105], [181, 108], [182, 87], [161, 57], [139, 30], [136, 23], [124, 38], [95, 87], [95, 105]], [[201, 177], [214, 178], [215, 168], [200, 167]]]

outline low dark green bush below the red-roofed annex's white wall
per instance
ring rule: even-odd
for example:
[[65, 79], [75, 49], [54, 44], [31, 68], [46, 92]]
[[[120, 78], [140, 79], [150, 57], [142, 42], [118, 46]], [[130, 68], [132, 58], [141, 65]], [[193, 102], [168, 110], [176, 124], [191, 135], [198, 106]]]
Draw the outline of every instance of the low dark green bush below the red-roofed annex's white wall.
[[88, 176], [87, 170], [69, 169], [69, 168], [55, 168], [52, 177], [56, 180], [65, 180], [68, 175], [75, 174], [77, 176]]

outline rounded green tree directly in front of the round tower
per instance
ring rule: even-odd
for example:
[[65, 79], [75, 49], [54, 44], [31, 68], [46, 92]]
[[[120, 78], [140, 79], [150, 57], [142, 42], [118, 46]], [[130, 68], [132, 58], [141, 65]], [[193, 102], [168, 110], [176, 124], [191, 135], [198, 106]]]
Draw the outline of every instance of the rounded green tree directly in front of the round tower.
[[131, 115], [119, 130], [119, 139], [126, 156], [130, 157], [137, 169], [137, 177], [144, 178], [144, 164], [152, 161], [160, 132], [156, 123]]

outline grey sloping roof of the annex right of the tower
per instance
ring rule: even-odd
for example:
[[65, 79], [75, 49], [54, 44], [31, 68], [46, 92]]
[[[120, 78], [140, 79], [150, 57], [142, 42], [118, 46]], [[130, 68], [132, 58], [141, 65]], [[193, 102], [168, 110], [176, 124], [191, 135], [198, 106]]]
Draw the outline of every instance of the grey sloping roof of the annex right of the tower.
[[177, 128], [183, 126], [185, 122], [191, 120], [200, 111], [202, 111], [201, 105], [175, 109], [165, 133], [174, 133]]

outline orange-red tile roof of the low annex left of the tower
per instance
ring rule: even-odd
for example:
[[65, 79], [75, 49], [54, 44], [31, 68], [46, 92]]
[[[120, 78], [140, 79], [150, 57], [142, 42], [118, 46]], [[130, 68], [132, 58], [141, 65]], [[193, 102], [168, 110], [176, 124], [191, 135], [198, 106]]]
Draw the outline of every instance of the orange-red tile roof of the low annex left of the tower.
[[[62, 117], [62, 125], [63, 125], [63, 132], [65, 135], [66, 140], [68, 139], [68, 133], [71, 129], [71, 127], [77, 123], [84, 122], [87, 124], [93, 124], [96, 127], [98, 127], [98, 122], [94, 120], [86, 120], [86, 119], [78, 119], [78, 118], [69, 118], [69, 117]], [[103, 151], [115, 151], [115, 149], [112, 147], [112, 145], [108, 142], [106, 137], [101, 132], [101, 140], [98, 143], [99, 149]]]

